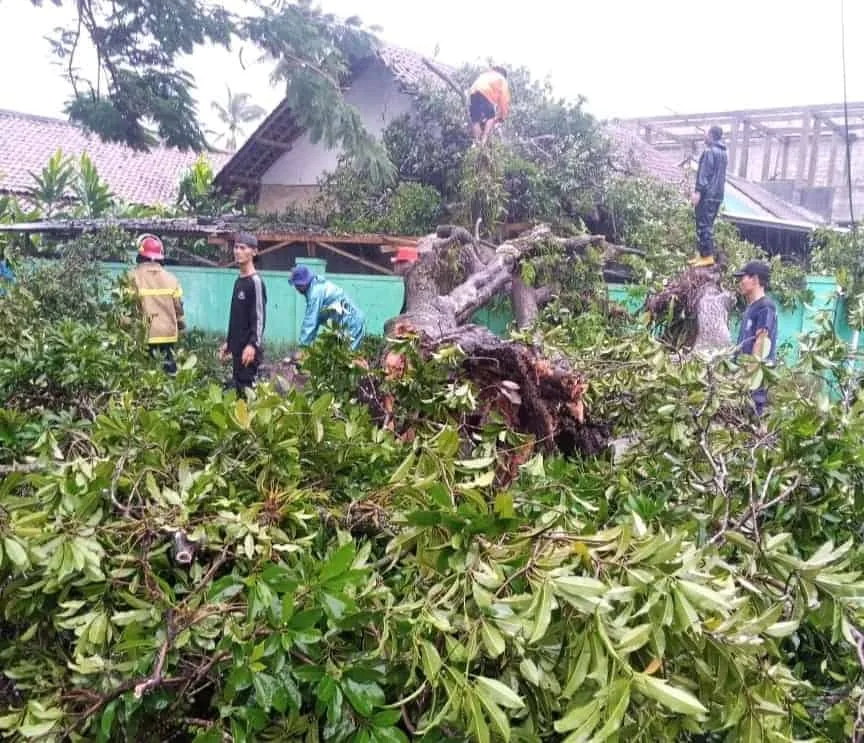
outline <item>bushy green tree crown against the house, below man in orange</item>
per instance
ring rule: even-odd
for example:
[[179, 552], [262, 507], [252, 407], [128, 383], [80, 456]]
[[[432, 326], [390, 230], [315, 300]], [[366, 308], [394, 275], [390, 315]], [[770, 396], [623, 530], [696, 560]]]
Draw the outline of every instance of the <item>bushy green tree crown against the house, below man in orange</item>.
[[[480, 72], [464, 67], [454, 83], [468, 89]], [[502, 221], [546, 220], [578, 224], [580, 214], [607, 176], [608, 151], [595, 119], [582, 103], [556, 98], [551, 88], [524, 69], [509, 75], [513, 106], [500, 137], [489, 151], [471, 147], [463, 97], [449, 87], [421, 91], [409, 113], [384, 131], [384, 146], [402, 186], [423, 184], [438, 194], [445, 219], [459, 224], [483, 220], [491, 233]], [[386, 221], [400, 205], [393, 188], [370, 184], [350, 164], [324, 179], [318, 214], [342, 224]], [[398, 192], [398, 189], [396, 189]], [[429, 192], [431, 194], [431, 192]], [[436, 226], [431, 209], [417, 222], [419, 232]]]

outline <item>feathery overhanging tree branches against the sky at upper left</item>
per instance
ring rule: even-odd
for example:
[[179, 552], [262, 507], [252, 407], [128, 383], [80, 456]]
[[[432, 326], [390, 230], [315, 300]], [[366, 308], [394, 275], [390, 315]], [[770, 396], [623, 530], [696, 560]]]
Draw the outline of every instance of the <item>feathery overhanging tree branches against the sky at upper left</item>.
[[[310, 0], [256, 1], [242, 8], [248, 15], [203, 0], [79, 0], [74, 9], [76, 22], [50, 41], [72, 86], [70, 117], [104, 139], [137, 149], [157, 142], [207, 149], [183, 58], [204, 45], [230, 49], [246, 41], [273, 60], [274, 83], [286, 86], [314, 141], [339, 143], [366, 172], [389, 174], [381, 148], [341, 94], [352, 65], [377, 43], [358, 18], [340, 21]], [[80, 67], [85, 39], [95, 48], [96, 70]]]

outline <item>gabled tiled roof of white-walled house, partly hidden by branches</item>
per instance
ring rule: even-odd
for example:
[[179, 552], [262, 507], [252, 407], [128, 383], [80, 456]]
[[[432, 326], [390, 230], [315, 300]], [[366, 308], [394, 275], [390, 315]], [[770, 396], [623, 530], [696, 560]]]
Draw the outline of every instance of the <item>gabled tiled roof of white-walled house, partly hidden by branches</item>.
[[[453, 69], [428, 57], [392, 44], [382, 44], [368, 63], [378, 59], [384, 63], [407, 93], [416, 93], [426, 86], [442, 86]], [[436, 74], [436, 70], [438, 73]], [[256, 188], [264, 173], [294, 142], [304, 129], [294, 118], [291, 108], [283, 100], [252, 133], [243, 146], [224, 164], [216, 175], [216, 182], [226, 189]]]

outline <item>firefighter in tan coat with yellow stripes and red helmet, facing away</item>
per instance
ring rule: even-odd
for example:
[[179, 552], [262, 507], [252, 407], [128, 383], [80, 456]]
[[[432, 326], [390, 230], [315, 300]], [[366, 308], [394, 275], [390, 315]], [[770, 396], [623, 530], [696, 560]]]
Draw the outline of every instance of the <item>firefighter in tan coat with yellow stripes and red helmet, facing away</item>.
[[145, 234], [138, 238], [135, 260], [138, 266], [130, 273], [130, 278], [148, 323], [147, 346], [150, 355], [161, 356], [165, 371], [176, 374], [174, 344], [180, 331], [186, 328], [183, 290], [177, 277], [163, 268], [165, 249], [155, 235]]

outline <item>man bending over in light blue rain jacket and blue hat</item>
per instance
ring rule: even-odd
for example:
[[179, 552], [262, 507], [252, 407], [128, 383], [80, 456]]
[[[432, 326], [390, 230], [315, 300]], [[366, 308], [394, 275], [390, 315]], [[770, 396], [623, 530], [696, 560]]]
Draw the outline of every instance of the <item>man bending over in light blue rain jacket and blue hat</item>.
[[291, 272], [291, 283], [306, 297], [306, 314], [300, 327], [300, 346], [308, 346], [318, 330], [332, 320], [351, 339], [351, 348], [357, 350], [366, 335], [366, 318], [345, 292], [332, 281], [312, 273], [307, 266], [297, 266]]

